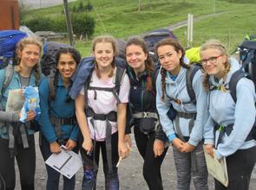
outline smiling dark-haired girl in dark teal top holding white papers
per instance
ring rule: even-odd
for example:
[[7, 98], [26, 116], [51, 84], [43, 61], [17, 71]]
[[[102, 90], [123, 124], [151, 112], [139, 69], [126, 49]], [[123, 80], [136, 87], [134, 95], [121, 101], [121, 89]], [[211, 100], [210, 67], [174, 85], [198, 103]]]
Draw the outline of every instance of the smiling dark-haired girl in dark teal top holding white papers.
[[[56, 72], [54, 76], [43, 79], [39, 86], [42, 115], [40, 118], [43, 159], [46, 161], [52, 153], [61, 152], [61, 145], [66, 149], [78, 151], [76, 142], [79, 127], [75, 122], [75, 103], [68, 93], [72, 85], [71, 76], [81, 60], [74, 48], [61, 48], [56, 52]], [[59, 187], [60, 173], [46, 165], [47, 189]], [[63, 188], [75, 188], [75, 176], [70, 180], [63, 176]]]

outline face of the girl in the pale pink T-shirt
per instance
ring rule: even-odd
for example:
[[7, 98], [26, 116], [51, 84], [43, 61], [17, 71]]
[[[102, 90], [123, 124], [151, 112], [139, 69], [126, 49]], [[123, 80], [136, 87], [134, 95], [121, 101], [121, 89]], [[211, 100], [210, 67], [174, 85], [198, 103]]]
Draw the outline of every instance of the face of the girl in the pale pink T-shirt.
[[110, 42], [98, 42], [95, 44], [95, 60], [99, 68], [107, 68], [113, 62], [115, 52]]

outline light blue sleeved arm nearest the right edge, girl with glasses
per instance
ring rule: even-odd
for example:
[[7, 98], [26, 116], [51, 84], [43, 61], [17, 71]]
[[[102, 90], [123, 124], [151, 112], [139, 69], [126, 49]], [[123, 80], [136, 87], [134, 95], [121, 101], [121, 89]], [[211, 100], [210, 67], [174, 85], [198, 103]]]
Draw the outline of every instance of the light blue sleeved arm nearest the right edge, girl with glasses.
[[[255, 92], [253, 81], [240, 79], [236, 87], [237, 102], [234, 104], [233, 131], [228, 136], [226, 142], [220, 143], [216, 151], [216, 157], [226, 157], [232, 155], [240, 149], [246, 140], [255, 122]], [[230, 97], [230, 99], [232, 99]], [[233, 101], [233, 99], [231, 100]]]

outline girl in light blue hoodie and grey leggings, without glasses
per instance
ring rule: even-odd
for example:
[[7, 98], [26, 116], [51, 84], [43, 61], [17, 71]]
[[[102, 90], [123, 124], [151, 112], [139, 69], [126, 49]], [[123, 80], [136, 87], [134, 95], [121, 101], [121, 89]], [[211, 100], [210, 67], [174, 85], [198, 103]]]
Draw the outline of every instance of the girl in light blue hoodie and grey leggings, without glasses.
[[[195, 99], [187, 91], [185, 54], [179, 41], [165, 39], [155, 47], [161, 63], [161, 73], [156, 82], [156, 107], [163, 130], [174, 146], [174, 163], [177, 171], [177, 189], [189, 189], [191, 177], [195, 189], [208, 189], [207, 166], [202, 149], [203, 127], [207, 121], [207, 92], [202, 86], [202, 73], [194, 74], [192, 88]], [[194, 103], [196, 102], [196, 103]], [[174, 123], [167, 117], [174, 107]]]

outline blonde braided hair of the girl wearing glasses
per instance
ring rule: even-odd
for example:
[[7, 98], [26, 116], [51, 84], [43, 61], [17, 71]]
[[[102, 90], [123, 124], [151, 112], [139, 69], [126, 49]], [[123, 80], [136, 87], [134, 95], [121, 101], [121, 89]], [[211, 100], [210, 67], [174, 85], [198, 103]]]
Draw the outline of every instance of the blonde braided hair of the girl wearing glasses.
[[[209, 40], [205, 42], [200, 48], [200, 54], [202, 51], [205, 51], [209, 48], [218, 49], [220, 51], [220, 54], [226, 55], [226, 57], [228, 57], [225, 46], [218, 40]], [[226, 92], [226, 88], [225, 88], [226, 75], [230, 71], [231, 64], [229, 60], [226, 59], [226, 62], [224, 62], [223, 65], [224, 65], [224, 71], [222, 72], [223, 81], [221, 85], [221, 90], [223, 92]], [[206, 72], [204, 72], [203, 85], [206, 90], [209, 90], [209, 77], [210, 76]]]

